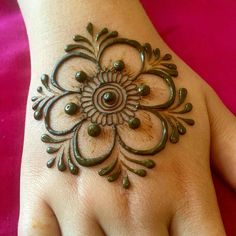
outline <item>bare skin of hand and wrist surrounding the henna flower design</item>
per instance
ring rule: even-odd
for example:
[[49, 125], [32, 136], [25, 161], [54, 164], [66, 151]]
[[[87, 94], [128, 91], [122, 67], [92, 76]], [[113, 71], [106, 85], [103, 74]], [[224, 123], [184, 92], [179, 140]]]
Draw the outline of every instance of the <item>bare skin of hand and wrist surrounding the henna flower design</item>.
[[[235, 117], [162, 41], [140, 3], [20, 0], [19, 5], [28, 32], [32, 66], [21, 168], [19, 235], [225, 235], [210, 162], [236, 189]], [[119, 182], [109, 183], [98, 176], [98, 167], [82, 167], [78, 177], [46, 168], [49, 157], [40, 141], [44, 124], [33, 118], [30, 98], [35, 95], [41, 74], [52, 71], [74, 34], [86, 34], [88, 22], [94, 22], [99, 29], [107, 26], [117, 30], [142, 44], [149, 42], [163, 54], [171, 53], [179, 71], [175, 84], [188, 89], [187, 99], [194, 105], [191, 117], [195, 126], [188, 128], [178, 144], [168, 143], [153, 157], [156, 167], [147, 177], [129, 174], [132, 186], [128, 191]], [[119, 55], [119, 48], [113, 55], [132, 61], [131, 53]], [[85, 152], [105, 145], [86, 142], [86, 138], [84, 134]], [[131, 140], [131, 144], [141, 145], [142, 138]]]

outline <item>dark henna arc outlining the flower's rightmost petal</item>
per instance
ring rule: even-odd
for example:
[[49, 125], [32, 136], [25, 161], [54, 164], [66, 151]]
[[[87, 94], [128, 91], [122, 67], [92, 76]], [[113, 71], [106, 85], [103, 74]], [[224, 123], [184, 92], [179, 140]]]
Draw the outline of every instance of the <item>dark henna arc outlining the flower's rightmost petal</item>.
[[165, 81], [165, 83], [167, 84], [167, 86], [169, 87], [170, 96], [169, 96], [168, 100], [162, 104], [154, 105], [154, 106], [147, 106], [147, 105], [140, 104], [139, 108], [141, 108], [141, 109], [166, 109], [166, 108], [170, 107], [174, 103], [175, 97], [176, 97], [176, 88], [175, 88], [175, 84], [173, 82], [172, 77], [159, 71], [159, 70], [148, 70], [142, 74], [157, 75], [158, 77], [162, 78]]

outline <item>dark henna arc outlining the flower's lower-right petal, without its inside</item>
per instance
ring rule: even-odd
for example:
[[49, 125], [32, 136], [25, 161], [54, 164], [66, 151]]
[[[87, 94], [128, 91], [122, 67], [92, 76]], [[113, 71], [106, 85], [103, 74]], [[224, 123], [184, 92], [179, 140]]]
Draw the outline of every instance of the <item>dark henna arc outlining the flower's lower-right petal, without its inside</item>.
[[162, 137], [160, 139], [160, 142], [157, 143], [153, 148], [146, 149], [146, 150], [136, 150], [136, 149], [128, 146], [127, 144], [125, 144], [125, 142], [122, 140], [121, 136], [119, 135], [119, 132], [117, 131], [118, 141], [119, 141], [120, 145], [126, 151], [128, 151], [132, 154], [143, 155], [143, 156], [154, 155], [165, 148], [166, 142], [168, 140], [168, 125], [167, 125], [166, 120], [157, 111], [155, 111], [155, 110], [148, 110], [148, 111], [153, 113], [158, 119], [160, 119], [161, 125], [162, 125]]

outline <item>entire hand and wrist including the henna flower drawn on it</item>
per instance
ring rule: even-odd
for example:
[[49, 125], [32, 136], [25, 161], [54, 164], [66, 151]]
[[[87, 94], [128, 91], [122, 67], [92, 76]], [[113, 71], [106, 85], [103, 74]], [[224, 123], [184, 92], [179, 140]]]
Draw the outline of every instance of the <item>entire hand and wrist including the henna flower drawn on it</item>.
[[[22, 158], [19, 235], [225, 235], [209, 162], [212, 152], [212, 163], [235, 189], [235, 117], [161, 40], [138, 1], [20, 1], [20, 6], [29, 35], [32, 80]], [[136, 42], [110, 44], [99, 59], [91, 25], [86, 30], [88, 22], [93, 22], [94, 35], [106, 26], [109, 32], [119, 33], [117, 37], [113, 33], [111, 40]], [[92, 52], [67, 48], [66, 55], [81, 51], [95, 59], [79, 54], [54, 67], [75, 34], [92, 42], [83, 44]], [[150, 51], [147, 42], [161, 54]], [[30, 98], [37, 94], [42, 74], [51, 75], [52, 81], [45, 82], [46, 75], [43, 82], [55, 91], [38, 89], [38, 95], [60, 99], [51, 105], [50, 100], [45, 105], [48, 111], [43, 109], [43, 117], [37, 117]], [[115, 87], [106, 87], [112, 81]], [[127, 103], [134, 105], [129, 115], [125, 115], [130, 112]], [[109, 118], [109, 109], [116, 104], [116, 109], [124, 112], [120, 122], [119, 117]], [[95, 108], [104, 113], [105, 107], [109, 112], [104, 123], [90, 114]], [[91, 122], [98, 126], [91, 128]], [[65, 130], [68, 132], [63, 133]], [[54, 152], [58, 145], [53, 143], [54, 151], [49, 155], [45, 153], [50, 146], [45, 144], [48, 137], [41, 142], [42, 134], [67, 140], [60, 142], [58, 154]], [[71, 163], [67, 165], [68, 154], [74, 169]], [[97, 157], [105, 159], [106, 154], [106, 160], [98, 161]], [[56, 157], [54, 168], [47, 168], [51, 157]], [[144, 159], [151, 160], [149, 167], [153, 168], [133, 162]], [[110, 180], [118, 178], [112, 183], [98, 175], [111, 163], [116, 165]], [[53, 162], [48, 163], [51, 165]], [[142, 171], [137, 173], [137, 169]]]

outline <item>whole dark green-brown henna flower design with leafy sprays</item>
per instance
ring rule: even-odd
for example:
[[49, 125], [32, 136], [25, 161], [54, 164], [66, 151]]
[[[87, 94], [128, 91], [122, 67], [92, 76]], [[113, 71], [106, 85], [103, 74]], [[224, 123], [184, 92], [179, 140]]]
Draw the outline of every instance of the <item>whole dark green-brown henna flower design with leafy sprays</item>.
[[[51, 76], [42, 75], [43, 86], [37, 89], [40, 95], [32, 98], [34, 118], [44, 119], [45, 128], [49, 133], [43, 134], [41, 140], [49, 144], [47, 153], [54, 155], [47, 162], [47, 167], [53, 167], [57, 161], [60, 171], [68, 168], [72, 174], [77, 175], [79, 166], [91, 167], [102, 164], [109, 159], [115, 147], [118, 147], [120, 151], [117, 157], [108, 161], [109, 164], [103, 166], [98, 174], [106, 176], [109, 182], [117, 180], [122, 174], [122, 185], [129, 188], [127, 171], [141, 177], [146, 176], [147, 169], [155, 166], [150, 157], [165, 148], [168, 138], [171, 143], [177, 143], [180, 135], [186, 133], [184, 123], [194, 125], [194, 120], [184, 117], [193, 106], [191, 103], [185, 103], [186, 88], [179, 88], [176, 94], [173, 77], [177, 77], [178, 72], [176, 65], [171, 63], [170, 54], [162, 56], [158, 48], [153, 50], [148, 43], [141, 45], [135, 40], [120, 38], [118, 32], [110, 32], [107, 28], [94, 34], [91, 23], [88, 24], [87, 31], [91, 39], [76, 35], [75, 43], [65, 48], [66, 54], [55, 65]], [[120, 44], [130, 46], [138, 52], [141, 66], [135, 75], [125, 71], [126, 64], [123, 60], [114, 61], [110, 68], [102, 65], [106, 49]], [[59, 84], [58, 71], [66, 61], [73, 58], [92, 62], [97, 71], [93, 75], [83, 70], [77, 71], [74, 80], [78, 86], [75, 90], [69, 90]], [[154, 105], [143, 102], [152, 90], [148, 84], [140, 80], [145, 75], [154, 76], [164, 82], [168, 88], [166, 101]], [[56, 130], [51, 125], [52, 121], [55, 121], [55, 118], [52, 118], [52, 109], [57, 102], [69, 96], [74, 100], [66, 103], [62, 110], [68, 118], [75, 118], [76, 122], [67, 129]], [[122, 126], [127, 126], [130, 132], [140, 129], [143, 121], [138, 118], [138, 112], [149, 113], [160, 122], [160, 139], [155, 140], [156, 144], [148, 149], [129, 146], [119, 132], [119, 127]], [[110, 147], [100, 156], [88, 157], [81, 151], [78, 136], [86, 122], [89, 122], [86, 132], [91, 139], [99, 139], [105, 129], [111, 131], [111, 135], [107, 137], [111, 138], [107, 140]], [[137, 165], [141, 168], [132, 167]]]

